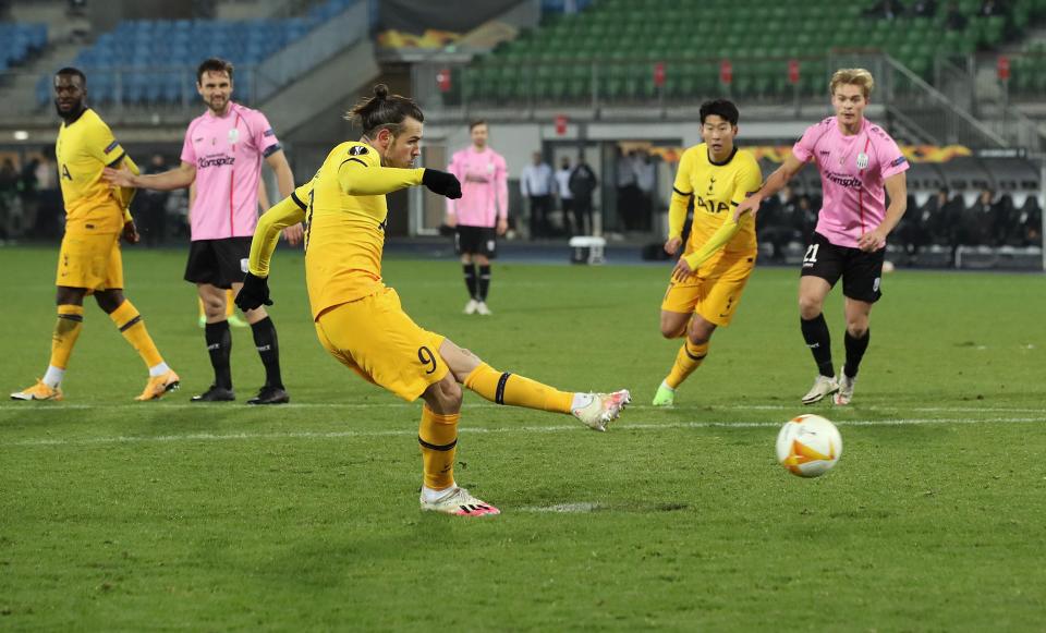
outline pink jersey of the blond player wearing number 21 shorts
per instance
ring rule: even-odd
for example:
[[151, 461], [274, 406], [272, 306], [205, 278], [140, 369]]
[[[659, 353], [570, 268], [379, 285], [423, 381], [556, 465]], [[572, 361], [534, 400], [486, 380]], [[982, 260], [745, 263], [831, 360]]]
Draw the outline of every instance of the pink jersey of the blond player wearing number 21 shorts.
[[837, 246], [858, 247], [858, 240], [886, 217], [884, 181], [909, 168], [897, 143], [867, 119], [856, 134], [846, 135], [836, 117], [806, 129], [792, 155], [814, 161], [820, 171], [824, 203], [816, 231]]

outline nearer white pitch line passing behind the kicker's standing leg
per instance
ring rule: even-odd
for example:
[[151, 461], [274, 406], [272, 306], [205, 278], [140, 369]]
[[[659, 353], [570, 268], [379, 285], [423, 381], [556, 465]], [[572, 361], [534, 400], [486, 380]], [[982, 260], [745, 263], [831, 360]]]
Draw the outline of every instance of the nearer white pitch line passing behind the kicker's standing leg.
[[[995, 419], [970, 419], [969, 417], [953, 418], [892, 418], [892, 419], [851, 419], [838, 422], [839, 426], [916, 426], [916, 425], [948, 425], [948, 424], [1046, 424], [1046, 415], [1032, 417], [1001, 417]], [[666, 422], [666, 423], [623, 423], [611, 427], [616, 431], [659, 431], [671, 429], [702, 429], [702, 428], [779, 428], [780, 421], [757, 422]], [[583, 433], [580, 424], [549, 425], [549, 426], [506, 426], [506, 427], [462, 427], [463, 435], [473, 434], [544, 434], [544, 433]], [[17, 447], [62, 447], [62, 446], [99, 446], [123, 443], [163, 443], [163, 442], [207, 442], [207, 441], [236, 441], [236, 440], [283, 440], [283, 439], [352, 439], [375, 437], [414, 437], [414, 429], [388, 430], [338, 430], [338, 431], [242, 431], [242, 433], [190, 433], [184, 435], [158, 436], [110, 436], [94, 438], [41, 438], [0, 442], [0, 448]]]

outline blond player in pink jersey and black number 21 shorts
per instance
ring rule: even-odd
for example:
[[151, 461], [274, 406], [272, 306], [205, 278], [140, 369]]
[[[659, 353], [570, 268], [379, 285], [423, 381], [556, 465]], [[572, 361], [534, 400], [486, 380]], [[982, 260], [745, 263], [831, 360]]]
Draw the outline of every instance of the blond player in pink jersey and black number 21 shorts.
[[[828, 84], [836, 115], [811, 125], [766, 184], [734, 211], [735, 217], [746, 211], [754, 216], [763, 198], [780, 191], [803, 166], [817, 165], [824, 203], [803, 257], [799, 315], [818, 375], [803, 404], [832, 394], [836, 404], [850, 404], [858, 367], [871, 340], [872, 305], [883, 295], [886, 236], [908, 208], [908, 160], [885, 130], [864, 118], [874, 85], [872, 73], [864, 69], [836, 71]], [[837, 378], [822, 308], [840, 278], [847, 362]]]

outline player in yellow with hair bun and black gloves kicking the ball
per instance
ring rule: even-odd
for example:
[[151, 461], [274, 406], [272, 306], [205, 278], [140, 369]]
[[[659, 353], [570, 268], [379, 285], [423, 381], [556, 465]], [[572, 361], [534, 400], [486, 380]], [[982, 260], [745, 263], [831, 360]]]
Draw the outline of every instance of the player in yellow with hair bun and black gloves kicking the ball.
[[269, 258], [280, 230], [305, 221], [305, 276], [316, 334], [332, 356], [364, 379], [408, 401], [422, 398], [418, 443], [421, 506], [460, 516], [498, 514], [454, 483], [461, 387], [498, 404], [573, 414], [597, 430], [618, 417], [630, 397], [559, 391], [498, 372], [440, 334], [417, 326], [396, 291], [381, 281], [388, 208], [385, 194], [424, 184], [448, 198], [461, 183], [448, 172], [412, 169], [424, 117], [384, 84], [352, 110], [363, 137], [335, 147], [312, 182], [297, 187], [258, 221], [250, 272], [236, 295], [241, 309], [271, 305]]

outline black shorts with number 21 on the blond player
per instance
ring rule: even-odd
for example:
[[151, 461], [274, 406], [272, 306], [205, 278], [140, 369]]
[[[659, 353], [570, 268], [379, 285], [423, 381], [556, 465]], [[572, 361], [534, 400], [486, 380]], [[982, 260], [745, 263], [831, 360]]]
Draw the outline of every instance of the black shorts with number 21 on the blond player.
[[842, 294], [875, 303], [883, 296], [879, 283], [885, 258], [886, 248], [865, 253], [860, 248], [837, 246], [815, 232], [803, 256], [802, 277], [819, 277], [831, 287], [842, 277]]

